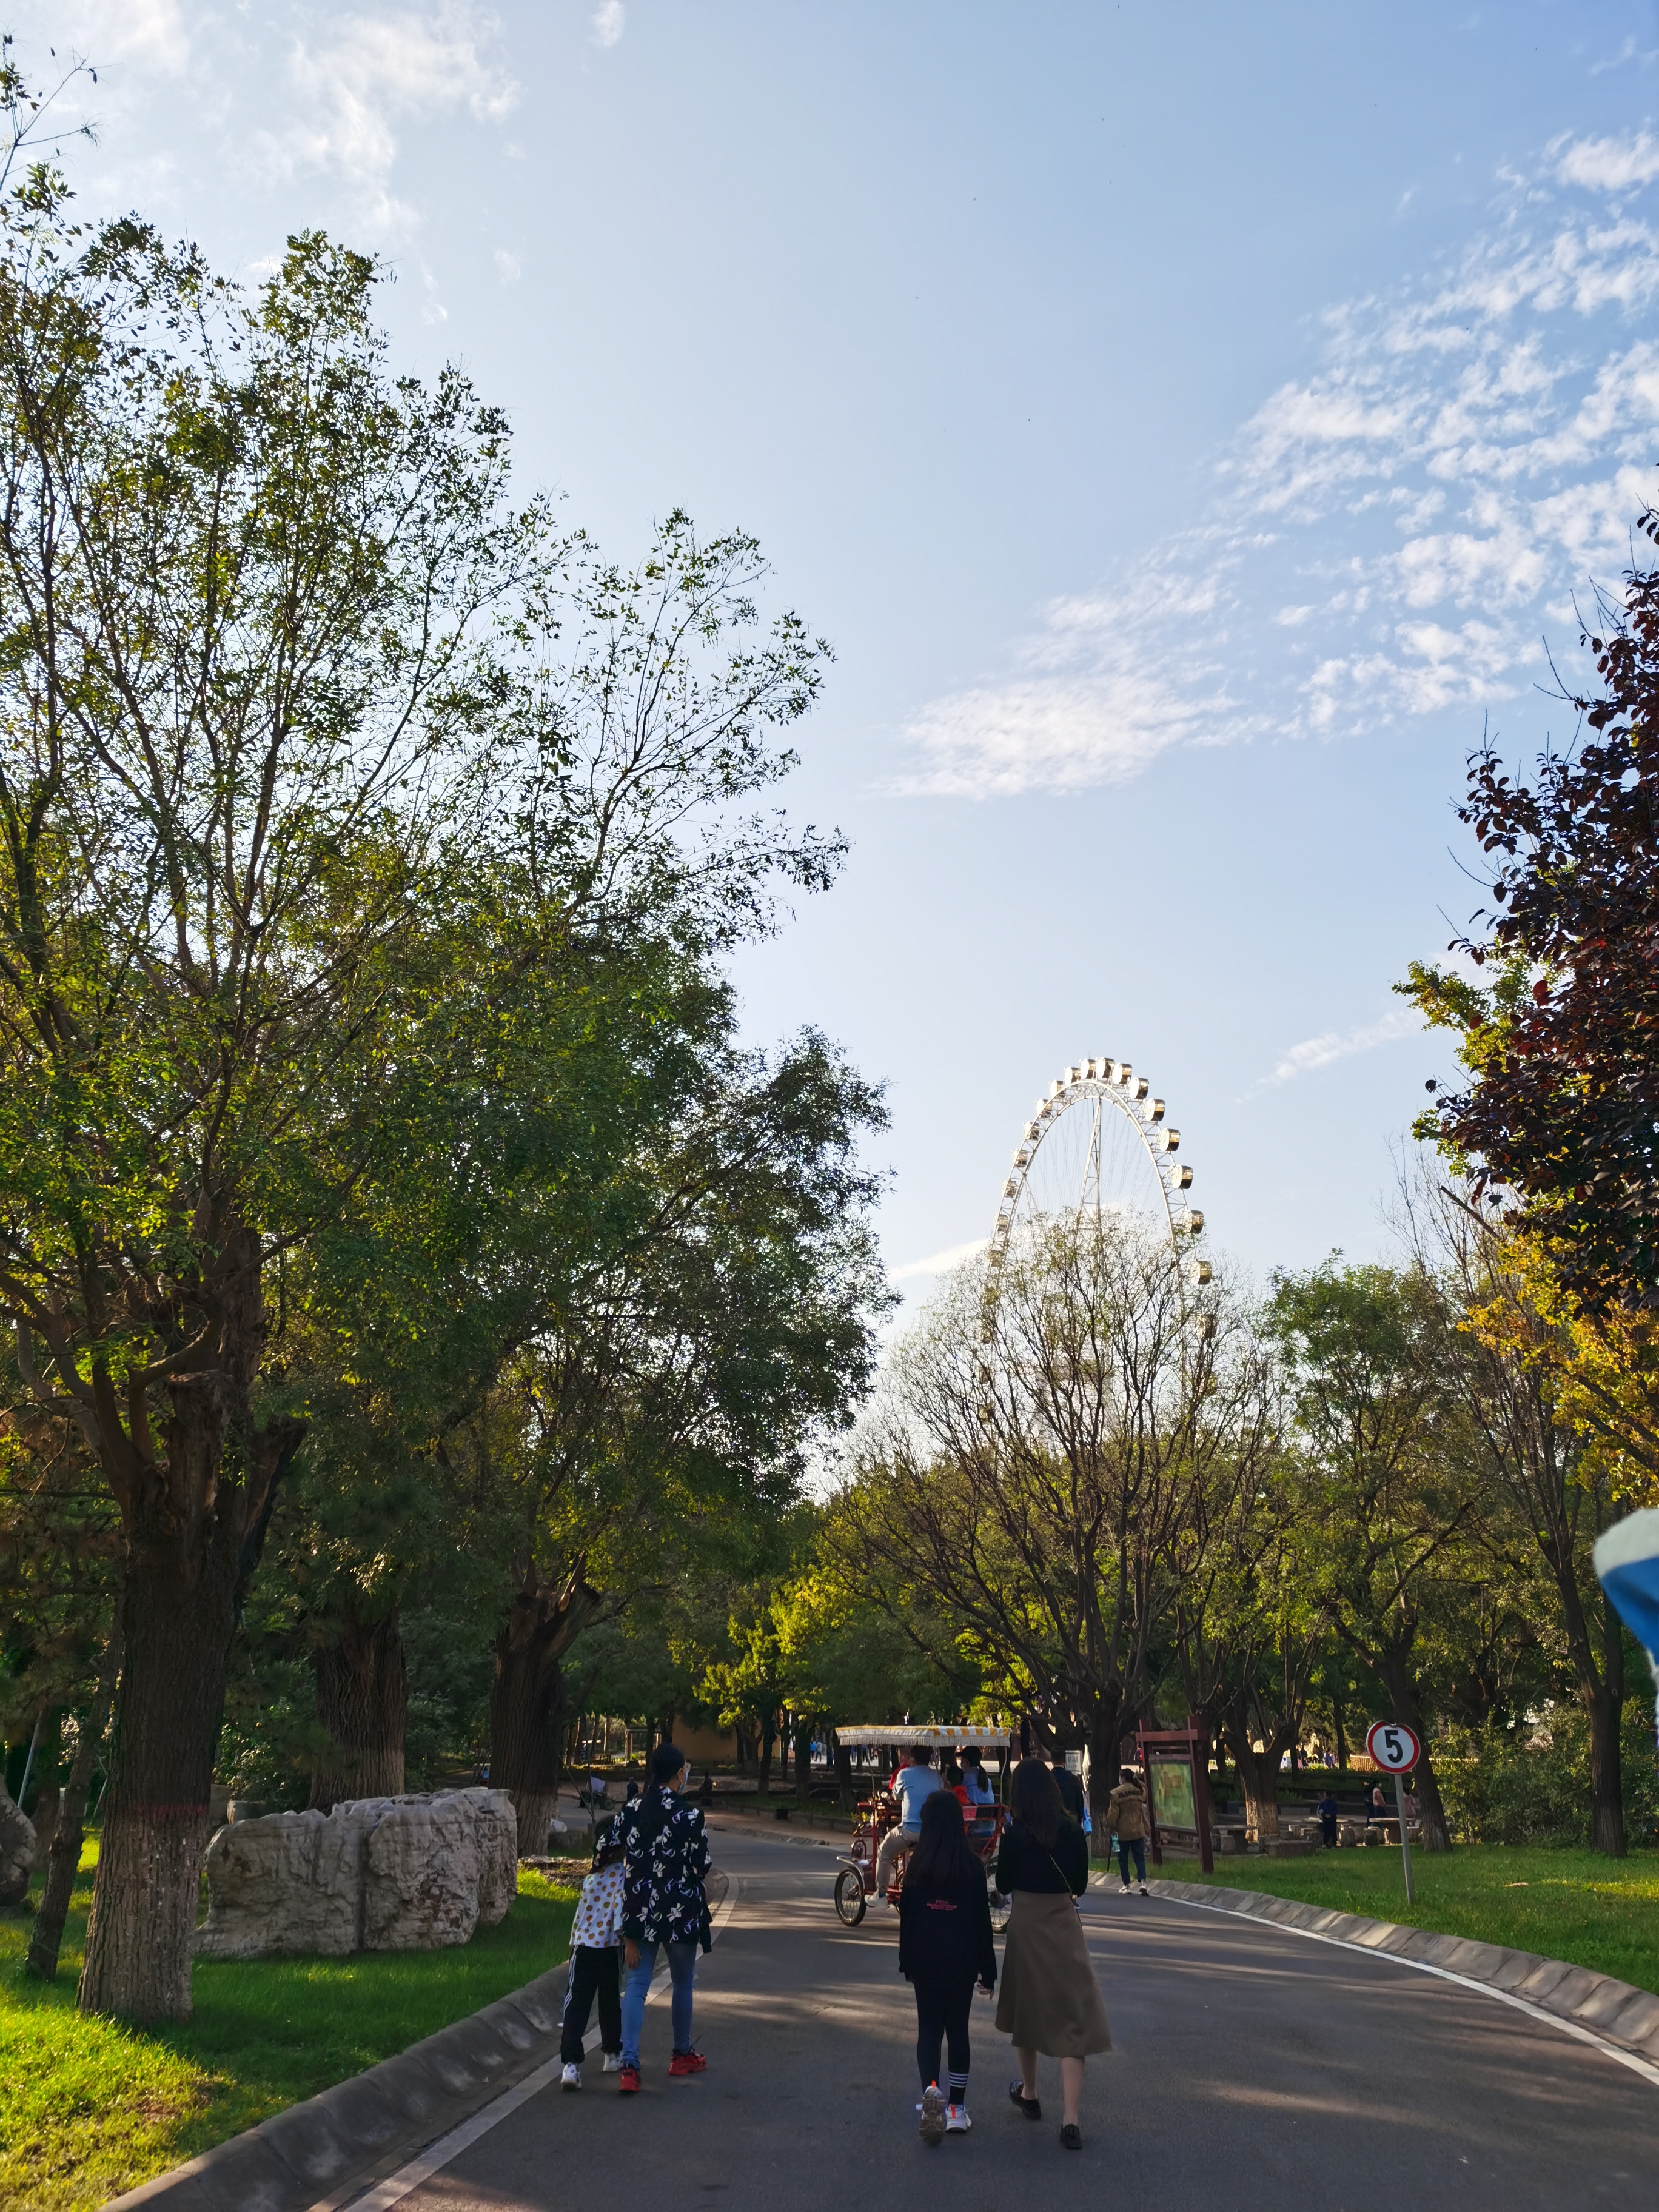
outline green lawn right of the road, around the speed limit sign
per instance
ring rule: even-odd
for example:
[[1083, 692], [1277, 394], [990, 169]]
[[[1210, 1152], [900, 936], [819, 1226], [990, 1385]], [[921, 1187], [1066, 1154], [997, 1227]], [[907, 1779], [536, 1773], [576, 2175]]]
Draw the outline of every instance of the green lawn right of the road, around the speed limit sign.
[[1402, 1927], [1475, 1936], [1659, 1991], [1659, 1851], [1597, 1858], [1595, 1851], [1511, 1849], [1500, 1843], [1469, 1843], [1433, 1858], [1413, 1851], [1416, 1905], [1405, 1902], [1398, 1847], [1232, 1858], [1221, 1860], [1212, 1876], [1199, 1874], [1197, 1860], [1166, 1858], [1164, 1874], [1177, 1882], [1265, 1889], [1274, 1898], [1301, 1898]]

